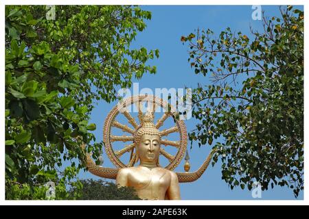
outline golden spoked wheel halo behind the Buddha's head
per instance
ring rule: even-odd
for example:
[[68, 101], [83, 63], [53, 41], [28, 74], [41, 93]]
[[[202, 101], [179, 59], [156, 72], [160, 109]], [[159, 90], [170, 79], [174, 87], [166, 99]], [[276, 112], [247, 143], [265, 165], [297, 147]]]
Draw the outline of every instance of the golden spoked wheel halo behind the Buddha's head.
[[[142, 107], [140, 107], [141, 103], [144, 103], [146, 101], [148, 102], [148, 107], [146, 111], [150, 112], [150, 115], [148, 114], [148, 116], [143, 113], [143, 110], [141, 110]], [[128, 112], [127, 110], [128, 107], [133, 104], [138, 106], [138, 119], [140, 125], [138, 124], [138, 121], [135, 120], [135, 118], [133, 118], [133, 116], [131, 116], [130, 112]], [[108, 158], [111, 159], [111, 162], [113, 162], [113, 164], [115, 164], [117, 168], [126, 168], [128, 166], [133, 166], [136, 163], [134, 161], [138, 157], [138, 154], [137, 151], [134, 152], [133, 148], [136, 149], [135, 146], [139, 144], [140, 138], [144, 133], [158, 135], [160, 137], [161, 146], [166, 146], [167, 148], [170, 148], [170, 146], [176, 147], [177, 152], [174, 155], [168, 153], [167, 151], [164, 151], [163, 149], [160, 150], [160, 155], [163, 155], [169, 161], [169, 164], [166, 165], [164, 168], [168, 170], [174, 170], [174, 168], [179, 165], [187, 149], [187, 129], [183, 120], [174, 120], [174, 127], [159, 131], [160, 127], [163, 125], [163, 123], [165, 123], [165, 120], [170, 116], [174, 116], [173, 110], [166, 110], [168, 109], [168, 106], [168, 101], [161, 99], [159, 96], [140, 94], [138, 96], [129, 96], [128, 98], [123, 99], [121, 101], [120, 107], [119, 104], [113, 107], [113, 110], [109, 112], [104, 123], [103, 142]], [[153, 117], [155, 112], [157, 112], [155, 107], [161, 107], [161, 109], [163, 109], [163, 115], [157, 120], [154, 125], [155, 121]], [[173, 106], [171, 107], [173, 108]], [[131, 129], [127, 125], [119, 123], [119, 121], [117, 121], [117, 115], [119, 114], [123, 114], [126, 117], [128, 123], [132, 125], [134, 129]], [[145, 116], [146, 118], [144, 118]], [[113, 136], [111, 134], [112, 127], [122, 129], [123, 131], [127, 132], [126, 136]], [[172, 141], [168, 139], [162, 139], [163, 136], [166, 136], [166, 138], [168, 138], [168, 135], [170, 133], [179, 133], [179, 140]], [[135, 138], [135, 136], [137, 138]], [[125, 145], [124, 149], [114, 151], [115, 147], [113, 146], [113, 142], [117, 141], [133, 142], [132, 144]], [[122, 162], [122, 160], [120, 159], [120, 157], [126, 153], [131, 153], [130, 160], [127, 163]]]

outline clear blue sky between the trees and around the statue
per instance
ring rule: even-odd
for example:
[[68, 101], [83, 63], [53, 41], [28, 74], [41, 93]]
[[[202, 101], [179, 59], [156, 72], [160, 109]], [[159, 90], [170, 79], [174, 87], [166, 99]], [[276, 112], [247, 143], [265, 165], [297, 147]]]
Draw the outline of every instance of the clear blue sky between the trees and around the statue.
[[[226, 27], [232, 31], [242, 31], [249, 38], [252, 36], [249, 27], [260, 32], [263, 31], [262, 21], [253, 21], [251, 5], [245, 6], [142, 6], [144, 10], [152, 12], [152, 19], [147, 21], [145, 31], [137, 34], [133, 48], [146, 47], [147, 49], [159, 49], [158, 60], [148, 62], [157, 66], [157, 74], [146, 74], [135, 82], [139, 82], [141, 88], [184, 88], [196, 87], [197, 83], [208, 84], [206, 77], [195, 75], [187, 62], [189, 57], [187, 45], [180, 41], [181, 36], [187, 36], [194, 29], [212, 29], [216, 36]], [[302, 7], [297, 7], [301, 8]], [[279, 16], [278, 6], [262, 6], [266, 16]], [[91, 123], [97, 125], [93, 131], [96, 141], [102, 141], [102, 129], [108, 112], [115, 106], [116, 102], [107, 104], [100, 101], [91, 114]], [[172, 122], [168, 121], [167, 125]], [[197, 121], [193, 118], [186, 120], [187, 131], [194, 129]], [[210, 147], [198, 148], [197, 143], [190, 149], [191, 171], [195, 171], [207, 157]], [[106, 167], [113, 167], [106, 154], [103, 154]], [[176, 172], [183, 172], [183, 164], [175, 169]], [[93, 178], [89, 172], [80, 172], [82, 179]], [[193, 183], [181, 183], [182, 199], [252, 199], [249, 190], [234, 188], [230, 190], [225, 181], [221, 179], [220, 161], [214, 166], [209, 166], [204, 175]], [[303, 199], [301, 192], [298, 199]], [[262, 192], [262, 199], [292, 199], [295, 200], [293, 191], [288, 188], [275, 187], [273, 190]]]

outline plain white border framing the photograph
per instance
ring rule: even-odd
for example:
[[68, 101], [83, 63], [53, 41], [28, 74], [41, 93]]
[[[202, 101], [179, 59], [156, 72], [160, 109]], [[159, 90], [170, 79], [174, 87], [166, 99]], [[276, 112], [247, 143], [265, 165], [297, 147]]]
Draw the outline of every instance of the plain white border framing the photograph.
[[[216, 3], [214, 3], [216, 2]], [[309, 176], [306, 174], [306, 170], [308, 170], [308, 148], [305, 147], [305, 171], [304, 171], [304, 200], [289, 200], [289, 201], [271, 201], [271, 200], [183, 200], [183, 201], [5, 201], [5, 49], [2, 47], [5, 43], [5, 5], [76, 5], [76, 1], [73, 0], [11, 0], [11, 1], [1, 1], [0, 2], [0, 14], [2, 14], [0, 18], [0, 27], [1, 27], [1, 35], [0, 35], [0, 43], [1, 43], [1, 51], [0, 58], [2, 64], [0, 64], [1, 76], [0, 76], [0, 94], [1, 94], [1, 109], [0, 109], [0, 120], [1, 120], [1, 131], [0, 131], [0, 139], [2, 140], [0, 146], [0, 204], [1, 205], [308, 205], [309, 204], [309, 194], [308, 194], [308, 185], [309, 185]], [[78, 5], [304, 5], [305, 14], [308, 12], [308, 1], [287, 1], [287, 0], [270, 0], [267, 3], [256, 0], [239, 0], [237, 3], [231, 4], [231, 1], [227, 0], [217, 0], [212, 1], [212, 3], [208, 3], [201, 0], [190, 0], [190, 1], [181, 1], [181, 0], [80, 0]], [[305, 51], [304, 51], [304, 67], [305, 72], [304, 75], [308, 74], [308, 50], [306, 50], [308, 45], [308, 22], [305, 22]], [[308, 116], [306, 116], [306, 112], [308, 112], [308, 79], [304, 78], [304, 133], [308, 133]], [[308, 142], [309, 136], [304, 136], [305, 142]], [[306, 143], [305, 143], [306, 144]]]

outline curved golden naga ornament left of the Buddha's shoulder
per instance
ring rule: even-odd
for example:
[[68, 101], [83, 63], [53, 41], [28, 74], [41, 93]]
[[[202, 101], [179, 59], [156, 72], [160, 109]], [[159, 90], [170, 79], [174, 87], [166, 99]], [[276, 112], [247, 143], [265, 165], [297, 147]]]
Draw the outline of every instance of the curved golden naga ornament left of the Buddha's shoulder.
[[[84, 149], [85, 146], [82, 144], [82, 149]], [[89, 153], [86, 153], [86, 165], [89, 170], [93, 175], [96, 175], [98, 177], [103, 177], [103, 178], [108, 178], [108, 179], [116, 179], [117, 177], [117, 172], [119, 169], [117, 168], [106, 168], [102, 166], [98, 166], [93, 162], [93, 159], [89, 155]]]

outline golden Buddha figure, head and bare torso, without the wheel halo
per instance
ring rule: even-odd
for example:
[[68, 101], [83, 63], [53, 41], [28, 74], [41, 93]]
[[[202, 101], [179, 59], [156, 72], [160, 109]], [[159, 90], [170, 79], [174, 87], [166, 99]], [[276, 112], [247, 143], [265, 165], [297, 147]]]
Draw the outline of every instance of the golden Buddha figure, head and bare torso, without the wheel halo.
[[141, 199], [180, 199], [177, 175], [159, 166], [161, 138], [153, 124], [152, 114], [146, 114], [134, 135], [139, 166], [119, 170], [116, 183], [131, 186]]

